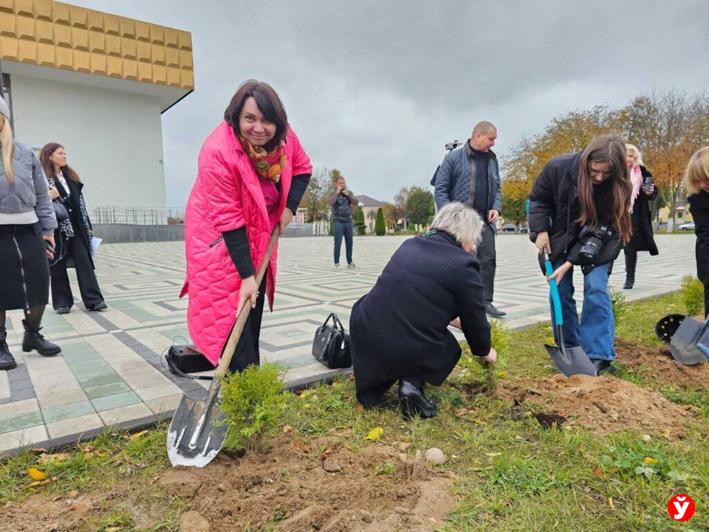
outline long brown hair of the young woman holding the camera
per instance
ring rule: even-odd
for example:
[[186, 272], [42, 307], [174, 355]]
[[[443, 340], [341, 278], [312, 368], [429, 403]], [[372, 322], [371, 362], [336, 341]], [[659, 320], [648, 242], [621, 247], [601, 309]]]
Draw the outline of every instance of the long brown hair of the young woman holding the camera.
[[581, 202], [581, 226], [595, 227], [598, 223], [598, 213], [593, 204], [593, 180], [591, 179], [591, 163], [608, 162], [610, 177], [613, 182], [613, 227], [623, 242], [630, 241], [632, 224], [630, 223], [630, 194], [632, 185], [625, 165], [625, 142], [618, 135], [600, 135], [586, 146], [581, 154], [579, 167], [579, 201]]

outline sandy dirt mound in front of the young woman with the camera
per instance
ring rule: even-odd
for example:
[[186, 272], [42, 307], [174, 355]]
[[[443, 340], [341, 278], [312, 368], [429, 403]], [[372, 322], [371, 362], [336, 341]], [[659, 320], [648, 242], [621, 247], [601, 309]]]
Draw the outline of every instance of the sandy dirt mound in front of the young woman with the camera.
[[657, 392], [613, 377], [503, 380], [497, 395], [516, 405], [537, 404], [547, 414], [537, 416], [542, 425], [552, 421], [564, 427], [581, 425], [601, 434], [632, 431], [683, 438], [686, 424], [697, 414], [693, 406], [679, 406]]

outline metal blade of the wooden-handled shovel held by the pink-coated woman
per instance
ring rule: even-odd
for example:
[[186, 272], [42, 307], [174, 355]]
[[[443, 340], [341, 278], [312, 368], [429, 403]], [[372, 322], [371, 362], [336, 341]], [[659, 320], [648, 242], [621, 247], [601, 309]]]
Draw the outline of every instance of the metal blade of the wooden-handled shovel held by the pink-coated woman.
[[167, 456], [173, 467], [204, 467], [219, 453], [226, 439], [227, 424], [216, 400], [182, 396], [167, 429]]

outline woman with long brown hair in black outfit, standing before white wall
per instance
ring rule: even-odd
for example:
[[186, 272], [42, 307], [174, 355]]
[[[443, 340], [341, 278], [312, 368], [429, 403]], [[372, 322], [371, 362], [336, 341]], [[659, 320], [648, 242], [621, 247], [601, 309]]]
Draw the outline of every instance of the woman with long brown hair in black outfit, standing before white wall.
[[[69, 314], [74, 305], [72, 288], [69, 286], [67, 267], [77, 270], [79, 292], [86, 310], [101, 311], [108, 308], [99, 288], [91, 258], [93, 228], [86, 211], [84, 184], [77, 172], [67, 165], [64, 146], [49, 143], [42, 148], [40, 162], [50, 185], [52, 201], [61, 203], [69, 217], [55, 230], [56, 255], [50, 263], [52, 276], [52, 306], [57, 314]], [[61, 210], [61, 209], [60, 209]]]

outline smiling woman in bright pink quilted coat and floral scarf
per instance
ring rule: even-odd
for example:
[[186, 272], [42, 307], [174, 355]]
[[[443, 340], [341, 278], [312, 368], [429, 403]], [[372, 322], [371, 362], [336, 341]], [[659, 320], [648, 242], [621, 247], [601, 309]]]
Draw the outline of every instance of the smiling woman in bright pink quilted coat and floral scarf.
[[187, 326], [196, 347], [217, 365], [241, 301], [252, 310], [229, 370], [259, 364], [264, 296], [273, 310], [277, 248], [260, 287], [255, 272], [269, 238], [291, 222], [313, 167], [288, 125], [286, 110], [264, 82], [244, 82], [224, 121], [204, 141], [187, 201], [184, 240]]

